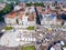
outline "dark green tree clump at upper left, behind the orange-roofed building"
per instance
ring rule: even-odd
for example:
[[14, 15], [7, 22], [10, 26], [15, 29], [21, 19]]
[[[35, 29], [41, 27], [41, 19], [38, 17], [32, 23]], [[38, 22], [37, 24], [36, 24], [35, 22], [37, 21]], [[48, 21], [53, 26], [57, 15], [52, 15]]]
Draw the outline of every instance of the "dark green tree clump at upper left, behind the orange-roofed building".
[[3, 8], [3, 10], [0, 11], [0, 21], [3, 21], [3, 16], [11, 12], [12, 10], [13, 10], [13, 6], [7, 4], [6, 8]]

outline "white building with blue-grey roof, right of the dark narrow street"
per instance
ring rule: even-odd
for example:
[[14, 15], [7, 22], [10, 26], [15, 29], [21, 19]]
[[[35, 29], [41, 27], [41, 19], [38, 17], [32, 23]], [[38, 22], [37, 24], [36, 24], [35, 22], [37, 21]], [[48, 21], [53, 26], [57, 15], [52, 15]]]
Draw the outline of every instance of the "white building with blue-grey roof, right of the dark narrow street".
[[51, 14], [45, 14], [42, 24], [56, 24], [56, 17], [51, 18]]

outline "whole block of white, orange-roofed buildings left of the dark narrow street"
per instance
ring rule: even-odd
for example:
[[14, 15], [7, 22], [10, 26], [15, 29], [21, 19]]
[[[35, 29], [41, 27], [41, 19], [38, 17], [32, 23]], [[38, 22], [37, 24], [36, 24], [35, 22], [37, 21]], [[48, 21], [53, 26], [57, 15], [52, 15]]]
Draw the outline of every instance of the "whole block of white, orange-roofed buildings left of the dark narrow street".
[[35, 23], [35, 11], [31, 7], [30, 10], [33, 10], [32, 12], [29, 10], [29, 8], [24, 8], [24, 10], [21, 8], [15, 8], [15, 11], [12, 11], [8, 13], [4, 17], [6, 23], [8, 26], [12, 24], [22, 24], [22, 26], [29, 26], [31, 22]]

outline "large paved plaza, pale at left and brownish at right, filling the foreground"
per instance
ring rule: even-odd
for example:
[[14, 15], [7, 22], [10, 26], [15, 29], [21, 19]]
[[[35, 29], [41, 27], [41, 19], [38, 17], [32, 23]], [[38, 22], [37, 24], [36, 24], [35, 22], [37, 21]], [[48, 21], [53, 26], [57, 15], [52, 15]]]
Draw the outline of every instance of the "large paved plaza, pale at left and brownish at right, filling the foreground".
[[[33, 43], [36, 46], [38, 50], [40, 44], [37, 41], [43, 40], [42, 44], [46, 50], [51, 43], [54, 41], [62, 40], [66, 43], [66, 31], [47, 31], [44, 26], [36, 26], [40, 29], [35, 28], [33, 31], [29, 31], [26, 29], [13, 29], [10, 31], [6, 31], [4, 34], [0, 39], [0, 49], [1, 50], [16, 50], [20, 49], [20, 46]], [[44, 30], [44, 31], [43, 31]]]

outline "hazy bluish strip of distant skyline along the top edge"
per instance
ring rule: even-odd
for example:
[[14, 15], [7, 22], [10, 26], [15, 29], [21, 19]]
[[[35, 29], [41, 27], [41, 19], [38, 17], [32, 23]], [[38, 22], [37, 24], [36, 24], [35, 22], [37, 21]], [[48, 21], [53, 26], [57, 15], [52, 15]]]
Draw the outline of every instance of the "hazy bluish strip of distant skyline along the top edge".
[[0, 2], [6, 2], [6, 1], [43, 2], [43, 1], [66, 1], [66, 0], [0, 0]]

